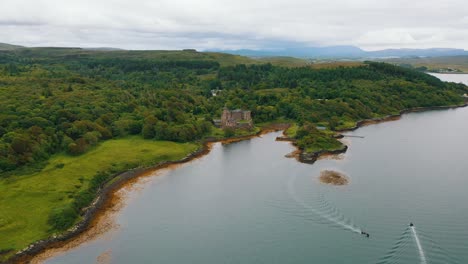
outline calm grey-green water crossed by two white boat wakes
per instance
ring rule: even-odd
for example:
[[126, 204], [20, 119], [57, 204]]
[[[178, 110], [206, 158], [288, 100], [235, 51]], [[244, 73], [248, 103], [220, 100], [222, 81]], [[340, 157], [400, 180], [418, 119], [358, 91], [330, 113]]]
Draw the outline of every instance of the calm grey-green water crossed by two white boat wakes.
[[[365, 138], [314, 165], [278, 133], [217, 144], [131, 193], [118, 231], [48, 263], [468, 263], [468, 108], [349, 134]], [[323, 169], [350, 184], [321, 184]]]

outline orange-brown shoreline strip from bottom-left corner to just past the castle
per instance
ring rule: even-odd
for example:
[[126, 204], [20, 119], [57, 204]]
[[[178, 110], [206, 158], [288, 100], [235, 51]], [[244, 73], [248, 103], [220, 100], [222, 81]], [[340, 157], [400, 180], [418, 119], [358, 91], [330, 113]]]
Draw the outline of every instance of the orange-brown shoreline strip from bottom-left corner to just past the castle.
[[[271, 124], [262, 127], [260, 131], [250, 135], [224, 139], [207, 138], [202, 141], [201, 147], [198, 150], [180, 160], [164, 161], [149, 167], [134, 168], [116, 173], [108, 184], [97, 192], [95, 199], [91, 205], [87, 207], [80, 222], [62, 234], [54, 235], [30, 244], [27, 248], [17, 252], [4, 263], [42, 263], [51, 256], [66, 252], [89, 240], [93, 240], [97, 236], [112, 229], [112, 226], [110, 226], [113, 224], [112, 220], [106, 218], [111, 217], [111, 213], [118, 211], [120, 207], [124, 205], [122, 204], [122, 199], [124, 198], [122, 194], [119, 194], [119, 191], [133, 186], [139, 179], [153, 175], [158, 171], [173, 169], [179, 165], [201, 158], [210, 153], [213, 144], [231, 144], [248, 140], [260, 137], [266, 133], [283, 130], [287, 126], [288, 124]], [[103, 226], [105, 230], [100, 228]]]

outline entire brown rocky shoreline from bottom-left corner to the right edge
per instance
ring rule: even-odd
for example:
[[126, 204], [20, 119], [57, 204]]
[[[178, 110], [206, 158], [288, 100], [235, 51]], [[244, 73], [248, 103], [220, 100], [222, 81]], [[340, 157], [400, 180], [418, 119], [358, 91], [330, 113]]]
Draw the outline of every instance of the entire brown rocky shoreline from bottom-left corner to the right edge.
[[[407, 113], [456, 109], [466, 106], [468, 106], [468, 103], [457, 106], [417, 107], [411, 109], [404, 109], [401, 110], [399, 114], [358, 121], [356, 122], [356, 125], [354, 127], [338, 130], [336, 132], [338, 135], [341, 135], [342, 132], [354, 131], [363, 126], [383, 123], [387, 121], [395, 121], [400, 119], [402, 115]], [[98, 227], [100, 221], [109, 215], [111, 211], [110, 209], [115, 209], [115, 207], [119, 205], [119, 203], [121, 202], [121, 197], [119, 196], [118, 192], [120, 190], [124, 189], [125, 187], [132, 186], [138, 179], [151, 175], [159, 170], [167, 168], [172, 169], [174, 166], [182, 165], [196, 160], [198, 158], [201, 158], [210, 153], [211, 147], [215, 143], [231, 144], [243, 140], [252, 139], [255, 137], [260, 137], [261, 135], [266, 133], [283, 130], [284, 136], [277, 137], [276, 140], [291, 142], [291, 144], [297, 149], [293, 152], [295, 153], [294, 157], [297, 161], [301, 163], [313, 164], [321, 157], [342, 154], [348, 150], [348, 146], [346, 144], [343, 144], [343, 147], [337, 150], [320, 150], [312, 153], [305, 153], [303, 150], [299, 149], [299, 147], [295, 144], [294, 139], [288, 138], [284, 134], [285, 129], [289, 125], [290, 124], [285, 123], [270, 124], [268, 126], [262, 127], [261, 130], [257, 133], [245, 136], [237, 136], [226, 139], [207, 138], [202, 142], [202, 146], [200, 149], [190, 153], [189, 155], [180, 160], [160, 162], [150, 167], [134, 168], [125, 172], [117, 173], [108, 185], [104, 186], [98, 191], [98, 193], [96, 194], [96, 198], [94, 199], [92, 204], [88, 206], [85, 213], [83, 214], [83, 219], [79, 223], [77, 223], [65, 233], [52, 236], [47, 239], [39, 240], [35, 243], [30, 244], [27, 248], [17, 252], [15, 255], [7, 259], [5, 263], [41, 263], [41, 261], [44, 261], [45, 259], [51, 256], [47, 255], [48, 252], [53, 251], [51, 253], [52, 256], [59, 253], [63, 253], [83, 243], [86, 243], [89, 240], [93, 240], [94, 238], [96, 238], [96, 236], [106, 233], [108, 229], [103, 231], [93, 229]]]

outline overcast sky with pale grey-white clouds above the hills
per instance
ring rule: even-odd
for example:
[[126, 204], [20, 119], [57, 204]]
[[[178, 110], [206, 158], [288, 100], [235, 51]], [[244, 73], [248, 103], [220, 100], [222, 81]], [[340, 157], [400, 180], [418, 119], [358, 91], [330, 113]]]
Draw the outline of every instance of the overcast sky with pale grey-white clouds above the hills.
[[291, 43], [468, 49], [468, 0], [0, 0], [0, 42], [125, 49]]

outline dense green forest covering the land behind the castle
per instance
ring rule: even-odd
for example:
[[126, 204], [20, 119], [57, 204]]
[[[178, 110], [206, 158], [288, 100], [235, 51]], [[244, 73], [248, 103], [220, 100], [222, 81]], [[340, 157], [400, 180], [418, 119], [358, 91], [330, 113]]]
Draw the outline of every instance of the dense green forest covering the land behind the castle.
[[58, 152], [80, 155], [127, 135], [200, 140], [223, 106], [250, 109], [257, 123], [283, 118], [335, 130], [406, 108], [460, 104], [466, 92], [464, 85], [376, 62], [312, 69], [222, 66], [191, 50], [2, 51], [0, 172]]

